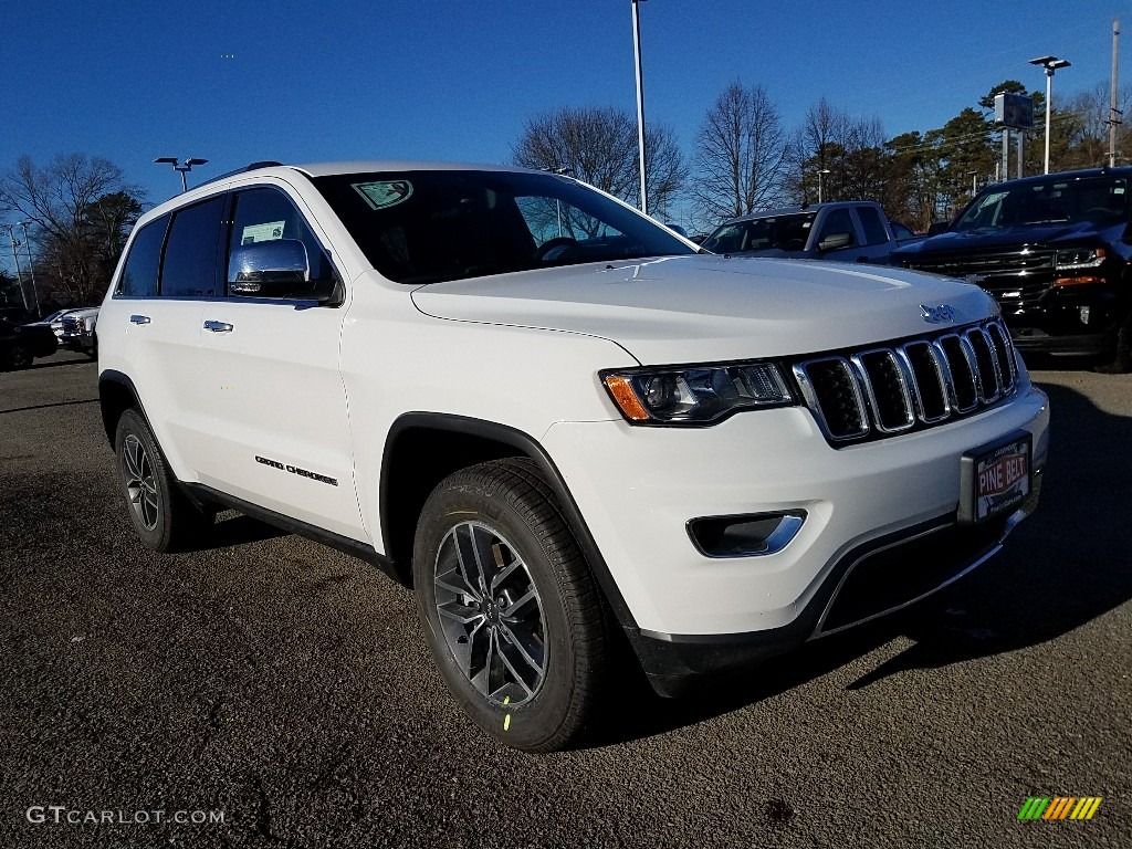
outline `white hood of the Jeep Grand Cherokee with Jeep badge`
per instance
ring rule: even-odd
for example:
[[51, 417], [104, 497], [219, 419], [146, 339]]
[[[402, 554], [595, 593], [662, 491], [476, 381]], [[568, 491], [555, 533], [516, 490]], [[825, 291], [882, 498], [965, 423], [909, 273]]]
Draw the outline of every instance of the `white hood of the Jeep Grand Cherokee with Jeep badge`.
[[786, 357], [914, 336], [920, 305], [955, 324], [996, 311], [977, 286], [889, 267], [719, 256], [591, 264], [432, 283], [436, 318], [611, 340], [642, 365]]

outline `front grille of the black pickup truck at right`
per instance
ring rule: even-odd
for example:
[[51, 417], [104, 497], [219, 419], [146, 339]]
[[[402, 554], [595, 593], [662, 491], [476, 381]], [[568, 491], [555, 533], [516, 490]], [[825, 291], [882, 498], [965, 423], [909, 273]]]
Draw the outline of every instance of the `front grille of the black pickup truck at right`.
[[1054, 251], [1026, 247], [993, 254], [917, 256], [909, 260], [908, 267], [968, 280], [1011, 311], [1012, 307], [1032, 307], [1053, 285]]

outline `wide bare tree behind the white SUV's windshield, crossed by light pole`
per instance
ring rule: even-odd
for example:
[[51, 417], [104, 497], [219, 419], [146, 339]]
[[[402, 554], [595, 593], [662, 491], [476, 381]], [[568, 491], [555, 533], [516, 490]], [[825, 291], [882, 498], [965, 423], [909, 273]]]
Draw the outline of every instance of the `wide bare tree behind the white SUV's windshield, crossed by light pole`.
[[[631, 204], [640, 204], [636, 123], [614, 108], [564, 106], [526, 122], [512, 148], [516, 165], [565, 171]], [[687, 179], [687, 166], [671, 129], [645, 127], [649, 208], [662, 216]]]

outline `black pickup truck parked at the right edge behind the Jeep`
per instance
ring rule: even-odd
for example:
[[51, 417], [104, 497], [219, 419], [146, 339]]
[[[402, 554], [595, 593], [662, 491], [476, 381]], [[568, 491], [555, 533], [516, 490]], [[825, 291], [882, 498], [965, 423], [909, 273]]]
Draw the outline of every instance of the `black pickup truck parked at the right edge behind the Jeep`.
[[893, 265], [961, 277], [993, 294], [1020, 351], [1132, 369], [1132, 168], [994, 183], [947, 229], [894, 250]]

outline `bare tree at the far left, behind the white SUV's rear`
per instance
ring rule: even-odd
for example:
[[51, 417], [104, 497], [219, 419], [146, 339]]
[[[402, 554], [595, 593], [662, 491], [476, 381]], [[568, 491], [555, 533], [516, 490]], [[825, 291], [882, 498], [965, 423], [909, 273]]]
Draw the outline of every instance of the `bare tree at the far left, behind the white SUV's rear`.
[[113, 271], [106, 248], [121, 251], [120, 234], [140, 200], [121, 169], [101, 156], [61, 154], [43, 168], [20, 156], [0, 174], [0, 213], [34, 229], [45, 282], [74, 303], [92, 303], [105, 291]]

